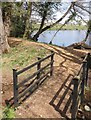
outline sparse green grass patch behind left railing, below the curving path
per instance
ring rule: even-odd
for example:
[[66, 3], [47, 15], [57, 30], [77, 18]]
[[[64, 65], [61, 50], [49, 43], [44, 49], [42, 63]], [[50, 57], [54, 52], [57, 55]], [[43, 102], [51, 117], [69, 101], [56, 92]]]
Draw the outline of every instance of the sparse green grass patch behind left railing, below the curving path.
[[24, 68], [34, 61], [37, 61], [37, 57], [43, 58], [48, 53], [48, 50], [41, 46], [20, 45], [11, 48], [10, 52], [2, 55], [2, 68]]

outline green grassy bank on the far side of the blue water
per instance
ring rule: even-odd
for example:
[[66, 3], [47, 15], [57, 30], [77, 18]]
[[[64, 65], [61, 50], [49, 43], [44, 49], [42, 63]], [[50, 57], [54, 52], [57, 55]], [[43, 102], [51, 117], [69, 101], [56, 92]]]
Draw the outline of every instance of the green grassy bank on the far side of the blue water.
[[[39, 24], [33, 24], [33, 29], [38, 30]], [[61, 24], [57, 24], [54, 27], [52, 27], [50, 30], [58, 30], [60, 29]], [[65, 25], [61, 30], [86, 30], [87, 26], [85, 25]]]

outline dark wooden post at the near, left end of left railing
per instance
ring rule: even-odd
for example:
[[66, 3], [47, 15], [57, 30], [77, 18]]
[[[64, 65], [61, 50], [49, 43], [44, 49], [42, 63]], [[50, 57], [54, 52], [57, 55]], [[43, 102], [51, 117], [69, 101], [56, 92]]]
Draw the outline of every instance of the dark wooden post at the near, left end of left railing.
[[17, 86], [17, 70], [13, 69], [13, 90], [14, 90], [14, 107], [18, 106], [18, 86]]

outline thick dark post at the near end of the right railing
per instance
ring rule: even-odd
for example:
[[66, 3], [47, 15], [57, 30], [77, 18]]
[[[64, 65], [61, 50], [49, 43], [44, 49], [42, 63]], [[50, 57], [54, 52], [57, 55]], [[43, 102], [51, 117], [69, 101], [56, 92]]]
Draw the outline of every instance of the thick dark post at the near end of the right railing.
[[78, 111], [78, 84], [79, 84], [79, 78], [74, 77], [73, 78], [73, 94], [72, 94], [72, 106], [71, 106], [71, 119], [75, 120], [77, 117], [77, 111]]

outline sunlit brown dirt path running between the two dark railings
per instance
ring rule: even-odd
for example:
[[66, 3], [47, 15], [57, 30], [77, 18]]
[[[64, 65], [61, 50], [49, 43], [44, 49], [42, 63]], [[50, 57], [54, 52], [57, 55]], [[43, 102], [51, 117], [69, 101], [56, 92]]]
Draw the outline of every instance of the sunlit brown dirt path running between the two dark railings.
[[[45, 45], [47, 49], [48, 47]], [[54, 57], [54, 75], [47, 79], [24, 103], [18, 107], [17, 117], [27, 118], [70, 118], [72, 77], [81, 63], [79, 56], [73, 56], [61, 48], [51, 48]]]

